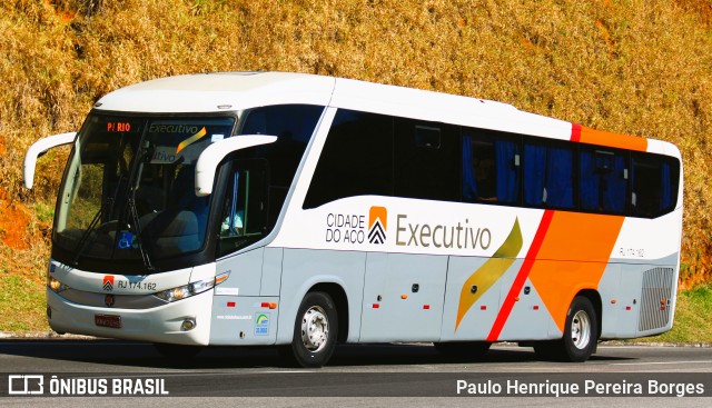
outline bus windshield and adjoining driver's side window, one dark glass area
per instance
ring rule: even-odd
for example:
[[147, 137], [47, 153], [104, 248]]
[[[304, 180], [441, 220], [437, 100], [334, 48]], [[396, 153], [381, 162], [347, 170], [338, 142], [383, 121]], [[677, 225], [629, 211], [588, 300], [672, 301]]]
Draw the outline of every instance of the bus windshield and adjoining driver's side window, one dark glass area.
[[[240, 111], [239, 122], [90, 113], [60, 187], [52, 257], [87, 271], [138, 275], [208, 262], [260, 241], [277, 223], [323, 112], [266, 106]], [[255, 133], [277, 140], [231, 152], [214, 192], [197, 197], [200, 153]]]

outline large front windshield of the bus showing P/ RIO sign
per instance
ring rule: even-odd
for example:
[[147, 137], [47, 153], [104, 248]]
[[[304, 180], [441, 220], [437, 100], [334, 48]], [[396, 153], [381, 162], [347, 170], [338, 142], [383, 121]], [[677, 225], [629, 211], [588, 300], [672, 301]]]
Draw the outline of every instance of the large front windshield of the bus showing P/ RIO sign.
[[69, 159], [53, 242], [80, 257], [161, 259], [199, 250], [210, 197], [195, 195], [195, 165], [235, 118], [91, 115]]

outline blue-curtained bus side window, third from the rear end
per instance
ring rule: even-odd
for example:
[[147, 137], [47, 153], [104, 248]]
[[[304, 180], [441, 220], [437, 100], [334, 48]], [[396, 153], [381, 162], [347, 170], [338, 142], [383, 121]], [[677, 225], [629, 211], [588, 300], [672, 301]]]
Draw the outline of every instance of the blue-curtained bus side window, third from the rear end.
[[524, 202], [533, 207], [574, 208], [573, 149], [524, 145]]

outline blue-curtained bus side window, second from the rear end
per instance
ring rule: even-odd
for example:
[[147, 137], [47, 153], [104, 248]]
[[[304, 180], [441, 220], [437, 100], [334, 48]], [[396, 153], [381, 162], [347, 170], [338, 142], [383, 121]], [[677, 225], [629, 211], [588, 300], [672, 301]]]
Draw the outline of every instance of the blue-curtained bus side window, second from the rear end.
[[623, 213], [629, 176], [626, 155], [586, 149], [580, 158], [581, 209]]

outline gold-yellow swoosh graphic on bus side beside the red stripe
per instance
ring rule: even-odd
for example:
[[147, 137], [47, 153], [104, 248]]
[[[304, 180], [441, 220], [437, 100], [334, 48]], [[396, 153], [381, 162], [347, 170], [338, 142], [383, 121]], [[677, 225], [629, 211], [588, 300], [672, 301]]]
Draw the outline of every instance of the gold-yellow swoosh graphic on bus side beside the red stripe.
[[[469, 308], [496, 282], [507, 269], [514, 263], [515, 257], [522, 249], [522, 230], [520, 229], [520, 220], [514, 220], [514, 226], [510, 236], [504, 240], [502, 246], [494, 252], [479, 269], [477, 269], [463, 285], [459, 292], [459, 307], [457, 309], [457, 321], [455, 322], [455, 331], [459, 327]], [[477, 285], [477, 292], [472, 293], [469, 288]]]

